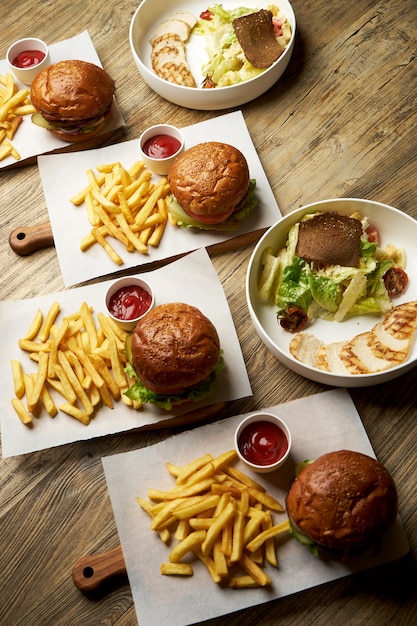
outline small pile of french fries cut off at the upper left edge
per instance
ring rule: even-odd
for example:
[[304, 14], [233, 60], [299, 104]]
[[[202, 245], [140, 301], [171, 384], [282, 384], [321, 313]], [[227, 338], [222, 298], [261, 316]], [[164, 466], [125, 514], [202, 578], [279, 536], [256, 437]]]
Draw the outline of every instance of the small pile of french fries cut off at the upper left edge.
[[12, 74], [0, 74], [0, 161], [12, 156], [19, 161], [20, 153], [12, 144], [23, 116], [35, 113], [30, 103], [29, 90], [17, 89]]

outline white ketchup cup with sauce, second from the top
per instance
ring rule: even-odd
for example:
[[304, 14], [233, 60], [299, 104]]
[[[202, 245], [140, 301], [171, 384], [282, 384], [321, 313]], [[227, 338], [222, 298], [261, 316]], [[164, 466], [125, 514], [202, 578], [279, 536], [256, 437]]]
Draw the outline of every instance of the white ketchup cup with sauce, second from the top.
[[184, 150], [182, 133], [170, 124], [157, 124], [139, 138], [140, 158], [155, 174], [166, 176]]

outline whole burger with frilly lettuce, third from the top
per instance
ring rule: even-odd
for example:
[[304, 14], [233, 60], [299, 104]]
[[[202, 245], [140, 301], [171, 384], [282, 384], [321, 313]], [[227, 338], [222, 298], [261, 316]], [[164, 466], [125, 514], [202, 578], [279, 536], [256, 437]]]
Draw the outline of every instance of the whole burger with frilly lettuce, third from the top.
[[215, 326], [182, 302], [161, 304], [140, 319], [126, 353], [135, 380], [126, 395], [166, 410], [208, 396], [224, 368]]

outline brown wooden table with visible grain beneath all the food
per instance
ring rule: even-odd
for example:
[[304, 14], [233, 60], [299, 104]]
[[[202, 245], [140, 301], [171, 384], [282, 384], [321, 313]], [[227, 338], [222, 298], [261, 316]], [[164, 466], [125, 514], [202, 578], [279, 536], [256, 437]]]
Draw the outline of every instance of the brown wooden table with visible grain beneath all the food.
[[[88, 28], [104, 68], [116, 79], [127, 122], [114, 141], [137, 138], [157, 122], [181, 127], [215, 116], [166, 102], [142, 81], [128, 42], [137, 4], [3, 0], [0, 54], [4, 58], [8, 45], [24, 36], [52, 43]], [[282, 213], [320, 199], [361, 197], [417, 218], [415, 0], [294, 0], [293, 6], [298, 32], [284, 77], [242, 107]], [[0, 172], [2, 299], [63, 288], [53, 248], [19, 257], [8, 245], [14, 228], [47, 219], [36, 166]], [[213, 257], [253, 386], [253, 397], [233, 403], [225, 415], [326, 389], [287, 370], [257, 338], [244, 290], [252, 249], [253, 244]], [[382, 386], [351, 390], [374, 450], [398, 486], [410, 554], [210, 624], [408, 625], [415, 620], [416, 392], [415, 370]], [[150, 445], [172, 432], [121, 434], [0, 461], [1, 624], [137, 623], [125, 579], [92, 600], [75, 588], [71, 569], [83, 554], [109, 550], [119, 541], [101, 457]]]

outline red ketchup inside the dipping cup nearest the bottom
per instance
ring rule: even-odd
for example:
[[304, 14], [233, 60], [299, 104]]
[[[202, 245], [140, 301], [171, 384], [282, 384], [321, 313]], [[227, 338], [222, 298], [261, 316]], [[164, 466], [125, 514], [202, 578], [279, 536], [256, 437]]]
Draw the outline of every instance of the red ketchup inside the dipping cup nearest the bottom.
[[252, 422], [242, 430], [239, 441], [242, 456], [254, 465], [272, 465], [279, 461], [288, 449], [288, 441], [282, 430], [272, 422]]

